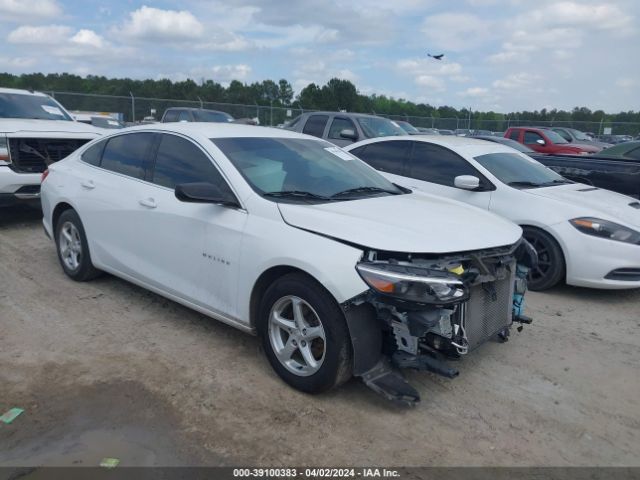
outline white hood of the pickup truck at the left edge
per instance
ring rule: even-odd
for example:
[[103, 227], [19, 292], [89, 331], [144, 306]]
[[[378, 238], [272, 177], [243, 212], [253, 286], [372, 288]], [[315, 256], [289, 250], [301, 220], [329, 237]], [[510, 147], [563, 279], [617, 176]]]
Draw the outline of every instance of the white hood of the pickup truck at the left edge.
[[28, 118], [0, 118], [0, 132], [10, 137], [42, 137], [52, 133], [54, 136], [95, 138], [104, 135], [107, 130], [82, 122], [66, 120], [35, 120]]

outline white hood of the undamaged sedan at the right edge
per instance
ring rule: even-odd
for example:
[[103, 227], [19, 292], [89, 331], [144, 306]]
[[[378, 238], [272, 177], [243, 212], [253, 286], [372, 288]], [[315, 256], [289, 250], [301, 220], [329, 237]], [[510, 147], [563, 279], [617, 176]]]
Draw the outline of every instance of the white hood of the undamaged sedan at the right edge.
[[582, 183], [535, 188], [526, 190], [526, 192], [559, 200], [567, 204], [572, 211], [579, 211], [580, 213], [577, 213], [579, 216], [601, 218], [623, 225], [640, 227], [640, 209], [630, 205], [638, 204], [638, 200], [626, 195]]

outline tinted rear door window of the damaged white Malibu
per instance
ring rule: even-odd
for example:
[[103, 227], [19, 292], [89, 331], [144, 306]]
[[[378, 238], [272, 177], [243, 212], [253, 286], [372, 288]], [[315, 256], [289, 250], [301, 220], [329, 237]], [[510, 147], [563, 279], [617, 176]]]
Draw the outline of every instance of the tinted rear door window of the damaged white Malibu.
[[106, 170], [144, 179], [153, 133], [129, 133], [108, 140], [100, 166]]

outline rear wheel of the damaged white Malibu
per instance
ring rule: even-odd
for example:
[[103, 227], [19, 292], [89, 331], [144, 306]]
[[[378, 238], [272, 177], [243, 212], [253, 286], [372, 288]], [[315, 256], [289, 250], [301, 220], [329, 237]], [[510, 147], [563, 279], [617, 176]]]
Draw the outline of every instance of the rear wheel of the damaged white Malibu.
[[87, 235], [75, 210], [62, 212], [55, 225], [54, 238], [58, 260], [69, 278], [86, 282], [102, 274], [91, 263]]

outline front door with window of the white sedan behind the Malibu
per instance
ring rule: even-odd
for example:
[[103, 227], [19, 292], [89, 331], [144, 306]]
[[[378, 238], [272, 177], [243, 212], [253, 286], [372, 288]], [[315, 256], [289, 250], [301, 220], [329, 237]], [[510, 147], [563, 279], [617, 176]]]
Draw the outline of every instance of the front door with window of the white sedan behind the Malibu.
[[[405, 184], [434, 195], [440, 195], [480, 208], [489, 209], [495, 187], [467, 160], [452, 150], [426, 142], [413, 144], [409, 154]], [[478, 190], [463, 190], [454, 185], [460, 175], [472, 175], [480, 179]]]

